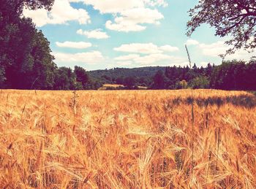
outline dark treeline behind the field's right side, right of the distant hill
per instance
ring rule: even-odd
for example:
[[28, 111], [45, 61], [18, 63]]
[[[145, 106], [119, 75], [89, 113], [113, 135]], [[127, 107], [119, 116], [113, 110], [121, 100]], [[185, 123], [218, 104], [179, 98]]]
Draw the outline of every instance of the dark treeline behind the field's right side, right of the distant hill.
[[224, 61], [219, 66], [208, 63], [206, 68], [196, 65], [167, 67], [154, 75], [152, 89], [213, 88], [222, 90], [256, 90], [256, 61]]

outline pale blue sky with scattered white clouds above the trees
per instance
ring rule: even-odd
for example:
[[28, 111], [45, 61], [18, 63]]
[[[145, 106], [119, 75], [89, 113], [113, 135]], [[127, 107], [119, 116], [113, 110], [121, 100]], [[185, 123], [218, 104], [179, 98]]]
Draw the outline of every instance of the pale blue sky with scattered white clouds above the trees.
[[[50, 42], [57, 66], [86, 70], [222, 63], [229, 47], [208, 25], [186, 35], [187, 0], [55, 0], [50, 12], [24, 9]], [[255, 53], [238, 50], [225, 60], [248, 61]]]

